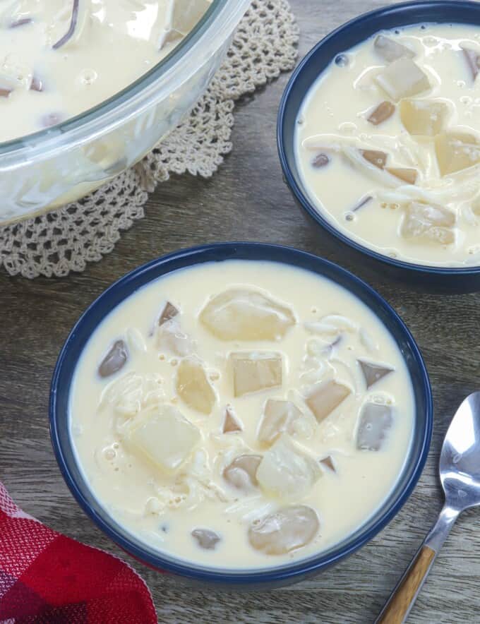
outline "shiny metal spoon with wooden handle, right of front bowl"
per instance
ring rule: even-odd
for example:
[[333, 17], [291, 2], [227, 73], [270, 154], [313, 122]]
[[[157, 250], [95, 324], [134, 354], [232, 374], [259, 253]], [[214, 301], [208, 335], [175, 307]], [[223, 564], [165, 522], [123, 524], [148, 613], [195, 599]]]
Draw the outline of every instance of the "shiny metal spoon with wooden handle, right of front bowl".
[[480, 505], [480, 392], [462, 402], [450, 423], [440, 455], [440, 481], [445, 505], [376, 624], [406, 620], [453, 523], [462, 511]]

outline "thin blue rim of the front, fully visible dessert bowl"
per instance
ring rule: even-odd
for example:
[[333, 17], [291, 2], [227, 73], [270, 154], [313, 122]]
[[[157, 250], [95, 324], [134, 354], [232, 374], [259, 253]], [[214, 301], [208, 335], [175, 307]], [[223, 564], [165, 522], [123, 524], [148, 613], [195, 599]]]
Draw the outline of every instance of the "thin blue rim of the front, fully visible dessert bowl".
[[[380, 515], [373, 526], [366, 532], [362, 532], [357, 539], [352, 541], [351, 544], [347, 544], [344, 548], [335, 549], [332, 552], [329, 552], [325, 555], [313, 556], [304, 561], [299, 561], [293, 563], [291, 565], [286, 564], [279, 568], [268, 568], [268, 569], [260, 569], [260, 570], [246, 570], [244, 572], [234, 572], [232, 570], [222, 570], [215, 568], [202, 568], [201, 566], [196, 566], [193, 564], [183, 563], [181, 560], [171, 560], [169, 558], [164, 558], [162, 554], [153, 554], [152, 551], [149, 551], [148, 548], [138, 547], [135, 544], [132, 544], [129, 539], [126, 539], [123, 535], [116, 532], [114, 527], [111, 527], [108, 522], [105, 522], [102, 517], [97, 515], [94, 509], [92, 509], [88, 500], [86, 500], [83, 495], [82, 489], [76, 483], [76, 480], [73, 478], [71, 471], [68, 467], [68, 463], [66, 462], [66, 458], [64, 455], [64, 449], [61, 446], [61, 441], [59, 439], [59, 421], [65, 419], [66, 424], [68, 426], [68, 412], [64, 414], [59, 414], [57, 409], [57, 395], [59, 392], [59, 380], [63, 373], [64, 361], [66, 360], [68, 352], [73, 350], [76, 353], [75, 356], [75, 365], [78, 361], [78, 357], [80, 356], [81, 351], [76, 351], [75, 341], [76, 334], [79, 332], [80, 328], [83, 325], [89, 325], [89, 318], [94, 313], [97, 308], [102, 308], [104, 304], [112, 298], [112, 296], [119, 291], [124, 286], [131, 287], [129, 293], [126, 296], [133, 294], [136, 292], [138, 287], [142, 287], [146, 283], [157, 279], [160, 275], [157, 275], [156, 270], [158, 268], [163, 268], [165, 265], [172, 265], [176, 260], [184, 260], [188, 259], [188, 265], [184, 265], [185, 268], [191, 267], [203, 262], [212, 261], [212, 258], [209, 258], [208, 254], [215, 253], [215, 256], [220, 254], [221, 258], [216, 258], [217, 261], [234, 259], [236, 256], [244, 259], [244, 254], [248, 255], [250, 259], [262, 259], [268, 260], [268, 257], [264, 257], [266, 254], [268, 256], [272, 255], [273, 262], [285, 263], [287, 265], [300, 266], [298, 262], [305, 262], [307, 266], [301, 265], [301, 268], [305, 270], [311, 270], [315, 272], [317, 275], [323, 275], [327, 277], [327, 279], [332, 279], [332, 275], [335, 275], [335, 280], [340, 286], [346, 288], [351, 291], [349, 286], [352, 286], [352, 291], [354, 289], [359, 289], [368, 298], [369, 303], [366, 301], [364, 303], [370, 306], [373, 313], [378, 314], [379, 311], [385, 312], [385, 315], [389, 317], [392, 325], [396, 325], [399, 333], [401, 333], [404, 338], [406, 344], [412, 353], [414, 359], [414, 366], [417, 369], [419, 378], [417, 380], [420, 392], [422, 397], [425, 400], [425, 429], [424, 436], [421, 439], [421, 444], [419, 445], [419, 452], [416, 457], [414, 457], [414, 469], [412, 470], [412, 474], [409, 476], [409, 479], [406, 484], [404, 484], [403, 488], [396, 492], [395, 499], [393, 500], [390, 508], [385, 510], [383, 515]], [[261, 256], [261, 258], [258, 258]], [[280, 260], [277, 256], [281, 256], [282, 260]], [[177, 270], [176, 268], [171, 268], [164, 270], [161, 275], [167, 275], [167, 273], [172, 270]], [[143, 281], [143, 277], [145, 274], [149, 272], [152, 273], [151, 279], [146, 282]], [[328, 275], [330, 274], [330, 275]], [[139, 285], [138, 282], [140, 282]], [[355, 296], [358, 296], [354, 293]], [[125, 299], [122, 298], [123, 301]], [[118, 303], [116, 304], [118, 305]], [[108, 312], [111, 309], [107, 304]], [[95, 330], [98, 326], [98, 323], [94, 328], [90, 330], [90, 333]], [[68, 372], [69, 382], [68, 382], [68, 394], [70, 392], [70, 384], [71, 384], [71, 375], [73, 375], [73, 371], [75, 366], [72, 367], [71, 371]], [[431, 392], [430, 380], [428, 379], [428, 373], [426, 371], [426, 366], [424, 364], [424, 360], [421, 356], [419, 348], [416, 345], [414, 337], [411, 332], [404, 324], [400, 316], [397, 315], [395, 310], [390, 306], [390, 304], [383, 299], [380, 294], [378, 294], [372, 287], [370, 287], [366, 282], [360, 280], [359, 277], [356, 277], [353, 273], [341, 268], [339, 265], [336, 265], [329, 260], [325, 260], [325, 258], [320, 258], [319, 256], [315, 256], [311, 253], [307, 253], [305, 251], [300, 251], [298, 249], [280, 245], [272, 245], [272, 244], [263, 244], [263, 243], [250, 243], [250, 242], [227, 242], [227, 243], [216, 243], [216, 244], [208, 244], [202, 245], [192, 248], [186, 248], [179, 251], [175, 251], [174, 253], [169, 253], [165, 256], [157, 258], [156, 260], [152, 260], [150, 263], [142, 265], [135, 270], [129, 272], [124, 277], [121, 277], [119, 280], [114, 282], [110, 287], [108, 287], [100, 296], [95, 299], [95, 301], [88, 306], [86, 311], [80, 316], [80, 319], [77, 321], [76, 325], [74, 325], [70, 334], [68, 335], [64, 346], [61, 349], [59, 354], [59, 358], [56, 362], [56, 366], [54, 369], [54, 374], [52, 377], [52, 385], [50, 390], [50, 401], [49, 401], [49, 426], [50, 426], [50, 436], [52, 439], [52, 445], [54, 448], [54, 453], [56, 457], [56, 461], [59, 464], [59, 468], [61, 470], [61, 474], [66, 481], [68, 488], [70, 489], [73, 496], [76, 498], [78, 504], [83, 509], [83, 511], [90, 517], [90, 519], [97, 524], [97, 527], [102, 529], [102, 532], [106, 534], [112, 541], [121, 546], [124, 551], [130, 553], [132, 556], [140, 560], [142, 563], [149, 565], [152, 568], [157, 568], [158, 570], [162, 570], [165, 572], [173, 572], [175, 574], [179, 574], [184, 577], [189, 577], [194, 580], [198, 580], [200, 582], [220, 582], [222, 584], [268, 584], [275, 583], [284, 580], [292, 580], [294, 581], [295, 577], [301, 577], [303, 575], [308, 575], [310, 572], [316, 572], [322, 568], [326, 568], [333, 563], [337, 563], [337, 561], [342, 558], [348, 556], [354, 551], [364, 546], [366, 542], [373, 539], [378, 532], [380, 532], [383, 527], [385, 527], [390, 520], [400, 511], [404, 503], [409, 498], [412, 493], [414, 487], [416, 486], [417, 481], [421, 475], [421, 472], [424, 468], [426, 458], [428, 456], [428, 450], [430, 448], [431, 443], [431, 433], [433, 428], [433, 398]], [[85, 484], [85, 489], [88, 490], [87, 484]]]

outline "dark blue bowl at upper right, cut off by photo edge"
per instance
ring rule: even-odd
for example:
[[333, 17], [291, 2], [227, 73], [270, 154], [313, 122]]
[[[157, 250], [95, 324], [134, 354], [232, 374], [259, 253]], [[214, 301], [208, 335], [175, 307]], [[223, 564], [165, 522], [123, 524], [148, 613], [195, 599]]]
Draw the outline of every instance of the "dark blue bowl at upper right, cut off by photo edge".
[[[306, 93], [337, 54], [346, 52], [379, 30], [421, 23], [467, 23], [480, 25], [480, 3], [455, 0], [406, 2], [365, 13], [340, 26], [316, 44], [304, 57], [284, 90], [277, 121], [277, 145], [284, 179], [300, 207], [323, 227], [323, 242], [354, 265], [378, 275], [381, 272], [419, 289], [433, 292], [480, 290], [480, 267], [443, 268], [416, 265], [383, 256], [339, 232], [315, 208], [301, 181], [294, 153], [296, 118]], [[320, 231], [321, 232], [321, 231]]]

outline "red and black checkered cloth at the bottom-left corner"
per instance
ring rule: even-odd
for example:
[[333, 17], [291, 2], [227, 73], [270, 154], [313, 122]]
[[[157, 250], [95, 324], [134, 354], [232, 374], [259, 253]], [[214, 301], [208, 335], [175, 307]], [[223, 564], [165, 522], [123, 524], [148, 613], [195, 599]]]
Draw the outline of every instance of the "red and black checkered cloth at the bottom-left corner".
[[156, 624], [157, 616], [129, 565], [45, 527], [0, 483], [0, 623]]

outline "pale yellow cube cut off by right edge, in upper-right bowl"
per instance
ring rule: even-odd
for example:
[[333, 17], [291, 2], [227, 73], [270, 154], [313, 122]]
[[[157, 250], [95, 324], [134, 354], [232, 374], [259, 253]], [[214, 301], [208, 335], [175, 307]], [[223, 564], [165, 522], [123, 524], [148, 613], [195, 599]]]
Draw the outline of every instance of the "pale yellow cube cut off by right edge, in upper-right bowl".
[[435, 138], [435, 153], [440, 175], [446, 176], [480, 162], [480, 143], [471, 134], [439, 134]]

